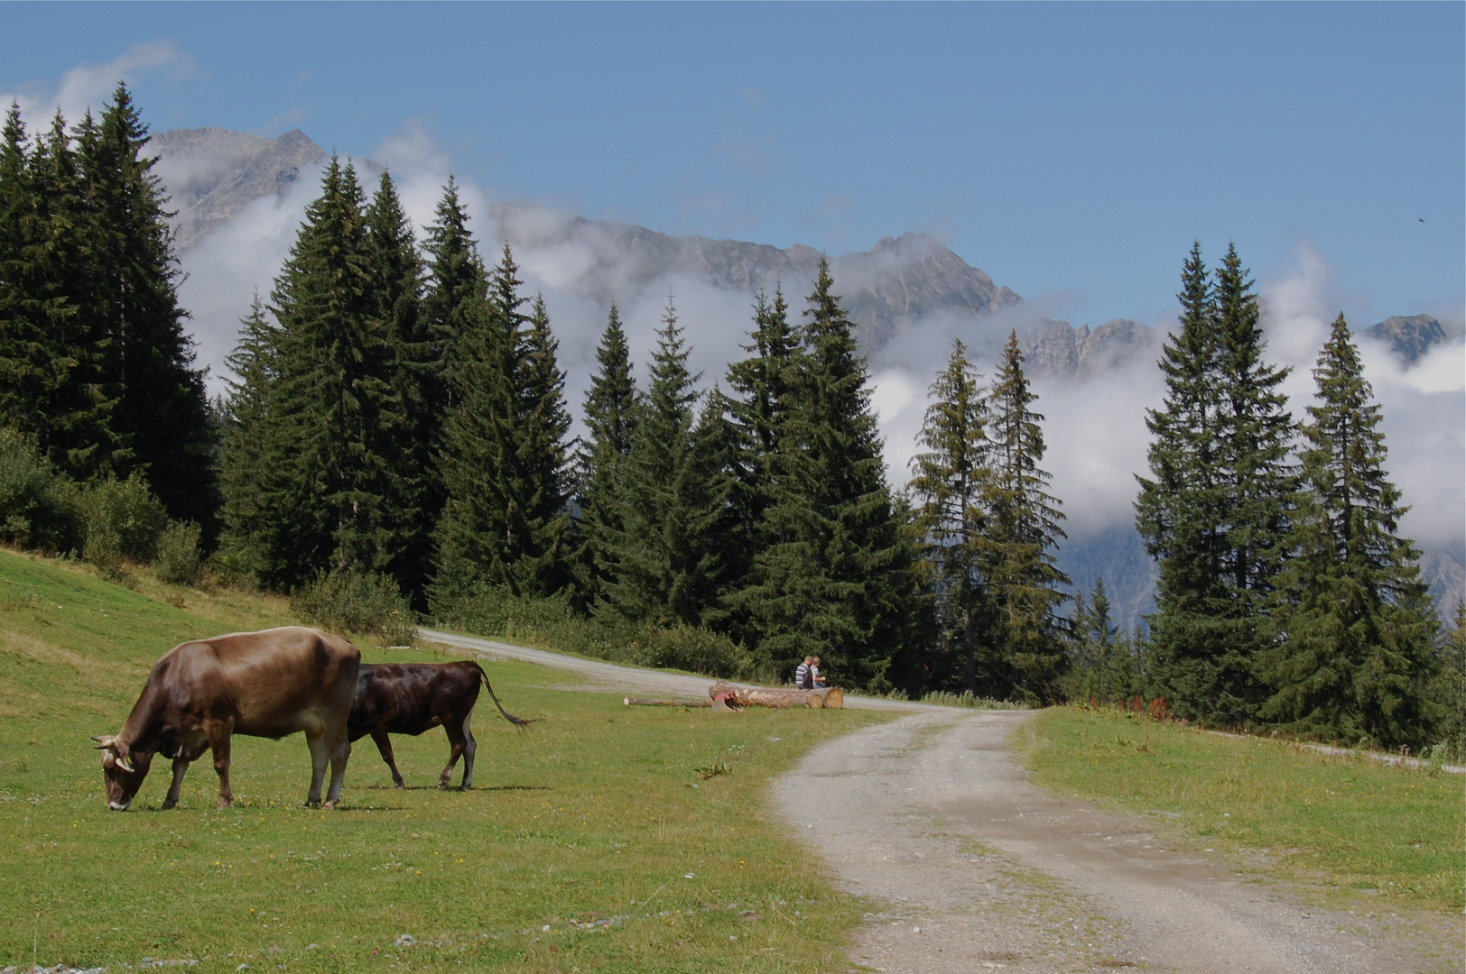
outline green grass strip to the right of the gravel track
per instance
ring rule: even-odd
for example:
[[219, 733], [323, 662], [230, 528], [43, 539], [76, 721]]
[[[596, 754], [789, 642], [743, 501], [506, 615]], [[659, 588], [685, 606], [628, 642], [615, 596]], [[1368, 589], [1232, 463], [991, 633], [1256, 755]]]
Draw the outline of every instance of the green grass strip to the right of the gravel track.
[[1333, 905], [1463, 908], [1460, 775], [1079, 707], [1042, 712], [1014, 743], [1036, 784], [1168, 822], [1183, 845]]

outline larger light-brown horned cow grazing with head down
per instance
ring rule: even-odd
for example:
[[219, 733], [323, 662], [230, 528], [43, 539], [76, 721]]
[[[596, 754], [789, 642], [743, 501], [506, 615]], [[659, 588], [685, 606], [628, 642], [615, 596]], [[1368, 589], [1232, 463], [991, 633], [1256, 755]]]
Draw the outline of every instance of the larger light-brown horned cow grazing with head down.
[[173, 759], [173, 785], [163, 803], [172, 808], [189, 763], [211, 748], [218, 807], [227, 808], [233, 801], [230, 735], [279, 740], [305, 731], [312, 769], [305, 804], [321, 804], [321, 781], [330, 762], [331, 788], [324, 807], [334, 808], [352, 753], [346, 719], [359, 663], [361, 653], [346, 639], [299, 625], [174, 646], [152, 665], [122, 731], [92, 738], [104, 751], [107, 806], [126, 810], [148, 776], [152, 756], [163, 754]]

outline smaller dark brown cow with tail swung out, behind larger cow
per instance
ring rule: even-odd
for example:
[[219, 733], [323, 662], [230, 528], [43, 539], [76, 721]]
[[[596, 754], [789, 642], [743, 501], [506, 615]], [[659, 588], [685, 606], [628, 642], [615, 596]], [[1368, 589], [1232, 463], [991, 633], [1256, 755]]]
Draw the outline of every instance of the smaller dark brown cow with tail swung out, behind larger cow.
[[402, 773], [393, 759], [388, 734], [412, 734], [443, 725], [449, 734], [449, 765], [438, 776], [438, 788], [449, 787], [449, 776], [459, 754], [463, 756], [462, 789], [474, 787], [474, 751], [478, 744], [468, 721], [478, 703], [479, 680], [488, 687], [494, 706], [510, 724], [529, 724], [513, 716], [498, 702], [494, 688], [488, 685], [488, 674], [472, 661], [456, 663], [362, 663], [356, 677], [356, 700], [352, 703], [349, 724], [350, 738], [359, 740], [371, 734], [381, 759], [391, 769], [391, 784], [403, 788]]

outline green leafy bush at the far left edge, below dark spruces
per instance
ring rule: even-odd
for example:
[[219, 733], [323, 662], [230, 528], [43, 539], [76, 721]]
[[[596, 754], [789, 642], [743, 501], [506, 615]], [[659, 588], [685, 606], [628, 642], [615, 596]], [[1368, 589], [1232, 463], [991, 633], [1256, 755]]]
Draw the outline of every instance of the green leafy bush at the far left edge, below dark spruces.
[[0, 542], [40, 551], [70, 551], [81, 542], [76, 488], [10, 428], [0, 428]]

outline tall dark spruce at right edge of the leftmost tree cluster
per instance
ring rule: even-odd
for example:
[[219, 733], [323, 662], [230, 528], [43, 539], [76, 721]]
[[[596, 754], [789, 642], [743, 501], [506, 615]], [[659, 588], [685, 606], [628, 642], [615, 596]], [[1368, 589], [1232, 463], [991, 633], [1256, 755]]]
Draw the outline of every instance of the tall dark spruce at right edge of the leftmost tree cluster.
[[214, 431], [204, 371], [177, 302], [179, 269], [166, 196], [144, 154], [148, 126], [119, 83], [92, 124], [81, 127], [79, 160], [89, 208], [91, 313], [108, 338], [107, 372], [119, 390], [113, 431], [130, 447], [129, 469], [145, 472], [169, 514], [211, 535], [218, 497]]

